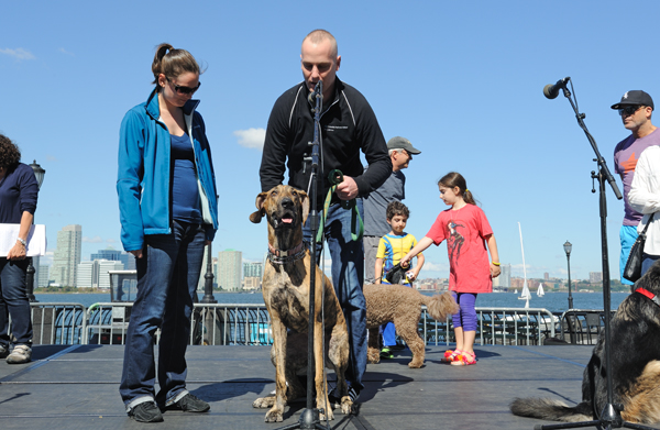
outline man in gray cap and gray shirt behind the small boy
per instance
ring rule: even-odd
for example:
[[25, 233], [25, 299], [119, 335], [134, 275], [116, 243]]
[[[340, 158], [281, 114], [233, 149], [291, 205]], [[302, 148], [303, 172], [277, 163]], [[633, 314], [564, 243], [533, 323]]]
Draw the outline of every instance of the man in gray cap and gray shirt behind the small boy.
[[387, 150], [389, 151], [389, 159], [392, 159], [392, 174], [381, 187], [363, 198], [364, 236], [362, 241], [364, 244], [365, 284], [376, 282], [378, 274], [374, 273], [374, 266], [378, 242], [392, 230], [385, 214], [387, 205], [391, 201], [402, 201], [406, 198], [406, 176], [402, 169], [408, 168], [413, 155], [421, 154], [421, 151], [415, 148], [409, 140], [400, 136], [392, 137], [387, 142]]

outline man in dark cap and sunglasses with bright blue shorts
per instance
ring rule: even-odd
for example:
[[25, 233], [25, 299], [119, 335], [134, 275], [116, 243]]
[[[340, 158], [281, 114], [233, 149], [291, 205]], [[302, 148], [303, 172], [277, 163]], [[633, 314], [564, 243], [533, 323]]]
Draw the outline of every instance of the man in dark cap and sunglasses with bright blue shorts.
[[660, 145], [660, 132], [651, 123], [651, 113], [653, 112], [653, 100], [651, 96], [641, 90], [627, 91], [622, 97], [622, 101], [612, 106], [617, 109], [622, 115], [624, 126], [630, 130], [631, 134], [620, 141], [614, 148], [614, 170], [619, 174], [624, 183], [624, 224], [619, 231], [622, 242], [620, 273], [622, 283], [632, 285], [624, 279], [624, 268], [630, 254], [630, 249], [637, 240], [637, 224], [642, 214], [630, 207], [628, 194], [630, 184], [635, 175], [635, 166], [639, 155], [649, 146]]

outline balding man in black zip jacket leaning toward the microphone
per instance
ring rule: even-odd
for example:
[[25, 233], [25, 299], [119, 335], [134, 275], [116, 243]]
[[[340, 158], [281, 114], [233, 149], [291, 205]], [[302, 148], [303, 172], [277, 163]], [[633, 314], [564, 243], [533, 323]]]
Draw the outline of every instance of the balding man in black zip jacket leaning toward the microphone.
[[[308, 97], [319, 80], [323, 85], [321, 109], [320, 172], [318, 172], [317, 209], [331, 184], [328, 175], [333, 169], [343, 173], [343, 181], [326, 213], [326, 225], [319, 225], [332, 258], [332, 284], [341, 302], [350, 333], [351, 355], [346, 379], [353, 399], [364, 387], [362, 375], [366, 370], [366, 306], [362, 285], [364, 279], [364, 250], [362, 241], [351, 238], [352, 210], [342, 208], [340, 200], [355, 200], [361, 214], [362, 196], [378, 188], [392, 173], [385, 137], [366, 99], [353, 87], [336, 76], [341, 64], [337, 41], [324, 30], [315, 30], [302, 41], [300, 53], [304, 82], [286, 90], [275, 102], [268, 126], [260, 169], [262, 191], [268, 191], [284, 181], [288, 168], [293, 187], [310, 192], [310, 166], [305, 158], [311, 155], [316, 100]], [[370, 168], [363, 173], [360, 151]], [[288, 161], [287, 161], [288, 158]], [[309, 223], [304, 228], [311, 243]], [[317, 256], [321, 246], [317, 244]], [[318, 263], [318, 262], [317, 262]]]

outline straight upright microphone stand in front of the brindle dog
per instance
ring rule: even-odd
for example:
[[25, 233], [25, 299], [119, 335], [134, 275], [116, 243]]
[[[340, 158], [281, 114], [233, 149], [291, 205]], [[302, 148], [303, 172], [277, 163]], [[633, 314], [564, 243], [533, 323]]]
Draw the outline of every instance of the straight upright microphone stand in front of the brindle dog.
[[[280, 427], [276, 430], [288, 430], [288, 429], [327, 429], [323, 427], [320, 421], [320, 410], [315, 408], [314, 406], [314, 390], [315, 390], [315, 357], [314, 357], [314, 326], [316, 322], [316, 313], [315, 313], [315, 293], [316, 293], [316, 271], [317, 271], [317, 246], [316, 246], [316, 236], [318, 233], [318, 223], [319, 216], [317, 212], [317, 170], [319, 168], [319, 146], [320, 146], [320, 134], [321, 134], [321, 109], [323, 106], [323, 82], [318, 81], [316, 85], [314, 92], [310, 95], [311, 98], [316, 98], [315, 109], [314, 109], [314, 142], [309, 142], [309, 146], [311, 146], [311, 157], [306, 157], [305, 162], [311, 162], [311, 172], [310, 172], [310, 190], [309, 190], [309, 228], [311, 230], [311, 246], [309, 250], [310, 258], [309, 258], [309, 326], [307, 332], [307, 405], [302, 414], [300, 414], [300, 419], [298, 422]], [[322, 306], [322, 304], [321, 304]], [[324, 348], [324, 346], [323, 346]], [[321, 357], [321, 360], [324, 360]], [[328, 405], [329, 406], [329, 405]]]

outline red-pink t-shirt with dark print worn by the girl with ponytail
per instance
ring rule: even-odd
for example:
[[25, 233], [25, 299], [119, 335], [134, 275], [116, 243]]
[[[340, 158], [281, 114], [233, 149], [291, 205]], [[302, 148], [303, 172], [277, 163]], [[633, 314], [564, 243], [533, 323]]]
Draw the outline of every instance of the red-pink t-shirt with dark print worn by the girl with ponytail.
[[493, 291], [491, 262], [485, 242], [485, 238], [490, 234], [493, 234], [493, 230], [486, 214], [474, 205], [440, 212], [427, 238], [436, 245], [447, 240], [450, 290]]

